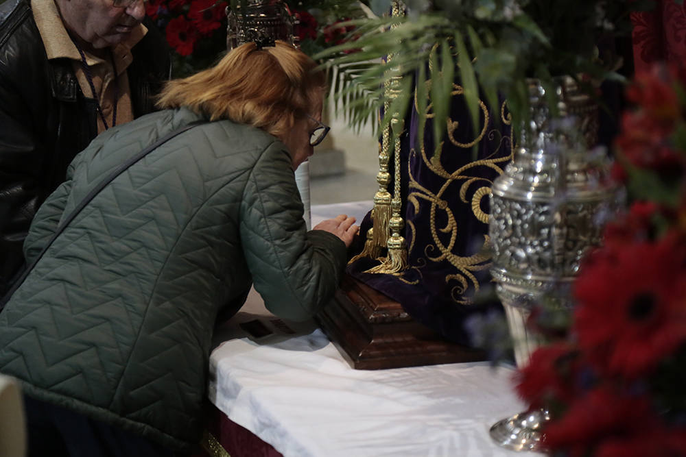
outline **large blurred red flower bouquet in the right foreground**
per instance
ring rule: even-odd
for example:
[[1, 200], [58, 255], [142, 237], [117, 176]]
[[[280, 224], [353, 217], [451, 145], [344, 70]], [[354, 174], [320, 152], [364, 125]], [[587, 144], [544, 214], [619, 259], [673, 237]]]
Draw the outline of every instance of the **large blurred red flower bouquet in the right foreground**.
[[554, 454], [686, 456], [685, 83], [656, 66], [628, 88], [615, 175], [632, 203], [582, 264], [567, 337], [517, 373]]

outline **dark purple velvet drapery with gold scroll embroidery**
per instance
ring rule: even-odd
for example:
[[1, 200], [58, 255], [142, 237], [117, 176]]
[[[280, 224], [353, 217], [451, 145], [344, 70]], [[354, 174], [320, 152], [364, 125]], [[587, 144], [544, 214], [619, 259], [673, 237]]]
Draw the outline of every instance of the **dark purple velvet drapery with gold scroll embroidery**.
[[[454, 85], [447, 133], [440, 155], [434, 155], [432, 121], [427, 120], [420, 145], [415, 108], [405, 123], [400, 151], [403, 236], [410, 267], [401, 275], [365, 273], [379, 262], [363, 258], [349, 265], [348, 273], [399, 301], [417, 321], [469, 345], [466, 317], [500, 309], [497, 300], [473, 299], [490, 284], [484, 253], [488, 193], [512, 155], [508, 116], [504, 106], [488, 110], [484, 104], [481, 124], [474, 129], [462, 88]], [[392, 168], [392, 158], [390, 162]], [[391, 193], [393, 188], [388, 186]], [[361, 241], [371, 224], [368, 214]], [[361, 250], [362, 243], [357, 247]]]

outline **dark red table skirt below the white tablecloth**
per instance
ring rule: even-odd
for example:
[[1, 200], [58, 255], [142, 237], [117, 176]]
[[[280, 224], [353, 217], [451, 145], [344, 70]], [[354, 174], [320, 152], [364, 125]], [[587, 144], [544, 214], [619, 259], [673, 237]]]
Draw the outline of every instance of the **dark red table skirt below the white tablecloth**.
[[215, 406], [210, 412], [202, 448], [203, 451], [193, 457], [283, 457], [272, 445], [230, 421]]

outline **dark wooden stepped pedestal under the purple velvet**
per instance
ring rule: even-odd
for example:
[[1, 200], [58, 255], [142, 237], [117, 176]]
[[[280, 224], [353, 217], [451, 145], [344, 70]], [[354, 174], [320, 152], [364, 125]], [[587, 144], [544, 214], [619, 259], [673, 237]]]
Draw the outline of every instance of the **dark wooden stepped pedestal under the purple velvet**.
[[446, 341], [397, 301], [348, 275], [316, 320], [355, 369], [486, 360], [483, 351]]

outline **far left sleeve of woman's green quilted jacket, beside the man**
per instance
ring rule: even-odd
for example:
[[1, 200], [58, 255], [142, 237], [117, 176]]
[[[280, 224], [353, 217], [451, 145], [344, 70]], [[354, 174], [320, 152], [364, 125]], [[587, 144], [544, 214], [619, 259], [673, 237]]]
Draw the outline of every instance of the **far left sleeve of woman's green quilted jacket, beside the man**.
[[73, 166], [72, 162], [67, 170], [67, 180], [60, 184], [36, 211], [36, 217], [34, 217], [24, 240], [24, 256], [27, 264], [31, 264], [34, 258], [40, 254], [40, 251], [43, 251], [46, 243], [57, 230], [57, 225], [64, 212], [64, 205], [71, 192]]

